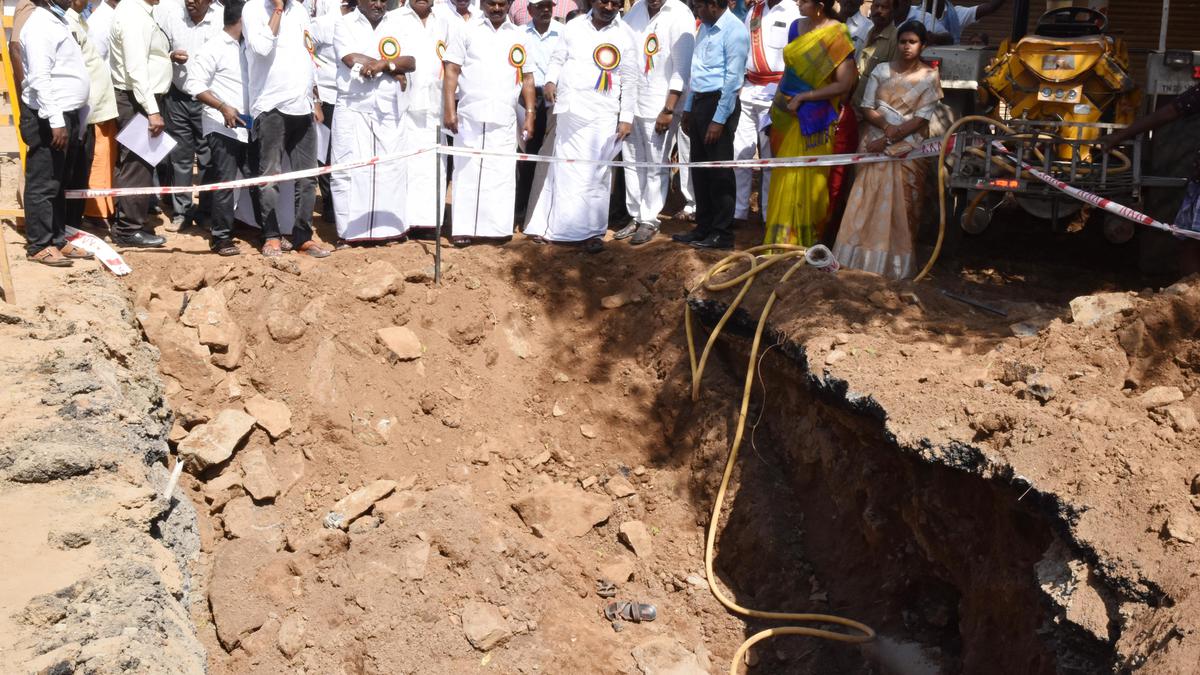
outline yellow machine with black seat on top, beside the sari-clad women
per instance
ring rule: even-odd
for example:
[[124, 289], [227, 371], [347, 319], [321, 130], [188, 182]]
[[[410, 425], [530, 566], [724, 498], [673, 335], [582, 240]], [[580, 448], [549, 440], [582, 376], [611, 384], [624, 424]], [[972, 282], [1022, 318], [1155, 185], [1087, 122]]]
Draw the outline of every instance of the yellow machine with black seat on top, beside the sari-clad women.
[[[1124, 43], [1106, 29], [1108, 17], [1097, 10], [1051, 10], [1033, 35], [1000, 46], [984, 73], [984, 90], [1007, 107], [1006, 118], [1061, 123], [1057, 136], [1067, 141], [1099, 138], [1100, 127], [1082, 125], [1129, 124], [1141, 92], [1129, 76]], [[1054, 154], [1091, 161], [1087, 145], [1058, 144]]]

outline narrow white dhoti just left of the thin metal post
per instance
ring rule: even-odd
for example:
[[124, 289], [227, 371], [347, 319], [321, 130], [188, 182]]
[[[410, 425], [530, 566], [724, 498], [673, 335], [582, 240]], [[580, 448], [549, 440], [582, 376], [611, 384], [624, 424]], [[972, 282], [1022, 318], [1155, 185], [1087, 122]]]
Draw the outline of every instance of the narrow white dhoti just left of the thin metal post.
[[[442, 141], [438, 124], [442, 121], [438, 110], [413, 110], [404, 114], [402, 124], [406, 153], [426, 148], [436, 148]], [[438, 163], [442, 163], [440, 181]], [[446, 203], [446, 166], [445, 157], [436, 151], [424, 153], [406, 160], [408, 171], [404, 189], [404, 223], [409, 229], [433, 229], [437, 226], [437, 210]], [[434, 196], [433, 186], [438, 186]]]

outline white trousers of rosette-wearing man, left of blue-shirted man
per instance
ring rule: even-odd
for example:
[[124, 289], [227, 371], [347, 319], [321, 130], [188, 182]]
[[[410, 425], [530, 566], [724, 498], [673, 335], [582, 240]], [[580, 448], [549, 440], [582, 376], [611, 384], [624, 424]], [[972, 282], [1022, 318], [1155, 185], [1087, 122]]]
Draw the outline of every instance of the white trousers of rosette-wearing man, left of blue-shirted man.
[[[654, 131], [654, 118], [634, 118], [634, 130], [623, 147], [628, 162], [668, 162], [679, 124], [666, 133]], [[659, 214], [671, 191], [668, 167], [625, 167], [625, 208], [638, 225], [659, 225]]]

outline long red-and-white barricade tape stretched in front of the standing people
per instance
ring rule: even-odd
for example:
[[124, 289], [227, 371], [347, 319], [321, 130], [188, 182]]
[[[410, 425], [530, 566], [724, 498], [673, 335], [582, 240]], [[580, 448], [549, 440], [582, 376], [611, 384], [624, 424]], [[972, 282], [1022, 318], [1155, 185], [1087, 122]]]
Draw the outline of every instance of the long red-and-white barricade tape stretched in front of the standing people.
[[397, 153], [395, 155], [380, 155], [370, 157], [366, 160], [360, 160], [358, 162], [346, 162], [341, 165], [332, 165], [328, 167], [317, 167], [311, 169], [292, 171], [288, 173], [278, 173], [275, 175], [263, 175], [257, 178], [241, 178], [238, 180], [226, 180], [221, 183], [210, 183], [206, 185], [180, 185], [172, 187], [110, 187], [104, 190], [67, 190], [66, 197], [68, 199], [86, 199], [89, 197], [133, 197], [133, 196], [163, 196], [163, 195], [184, 195], [192, 192], [214, 192], [216, 190], [240, 190], [242, 187], [262, 187], [263, 185], [269, 185], [271, 183], [283, 183], [286, 180], [296, 180], [300, 178], [311, 178], [316, 175], [323, 175], [326, 173], [350, 171], [361, 167], [368, 167], [371, 165], [380, 165], [385, 162], [396, 162], [400, 160], [407, 160], [415, 157], [418, 155], [424, 155], [425, 153], [437, 151], [439, 155], [444, 156], [486, 156], [486, 157], [503, 157], [518, 161], [528, 162], [556, 162], [556, 163], [568, 163], [568, 165], [605, 165], [610, 167], [631, 167], [631, 168], [787, 168], [787, 167], [833, 167], [842, 165], [865, 165], [875, 162], [895, 162], [904, 160], [918, 160], [923, 157], [936, 157], [937, 151], [941, 147], [940, 138], [931, 138], [925, 141], [920, 145], [916, 147], [911, 151], [900, 156], [890, 156], [883, 153], [877, 154], [853, 154], [853, 155], [817, 155], [811, 157], [772, 157], [762, 160], [731, 160], [731, 161], [718, 161], [718, 162], [626, 162], [616, 160], [575, 160], [566, 157], [553, 157], [548, 155], [528, 155], [524, 153], [500, 153], [494, 150], [481, 150], [474, 148], [455, 148], [452, 145], [430, 145], [428, 148], [421, 148], [420, 150], [412, 150], [407, 153]]

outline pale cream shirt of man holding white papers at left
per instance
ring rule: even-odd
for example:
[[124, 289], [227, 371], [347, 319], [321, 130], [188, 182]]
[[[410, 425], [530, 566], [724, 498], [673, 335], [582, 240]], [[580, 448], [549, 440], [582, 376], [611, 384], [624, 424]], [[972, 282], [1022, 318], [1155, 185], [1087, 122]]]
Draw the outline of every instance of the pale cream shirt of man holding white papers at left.
[[108, 65], [114, 88], [132, 91], [148, 115], [158, 113], [155, 96], [170, 89], [170, 44], [145, 0], [125, 0], [113, 11]]

